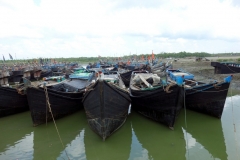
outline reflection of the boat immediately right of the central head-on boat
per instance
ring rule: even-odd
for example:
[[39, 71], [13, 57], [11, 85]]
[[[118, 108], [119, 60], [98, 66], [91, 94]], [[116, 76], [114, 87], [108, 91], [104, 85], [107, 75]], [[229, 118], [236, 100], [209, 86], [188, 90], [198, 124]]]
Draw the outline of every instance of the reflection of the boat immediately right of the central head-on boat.
[[132, 158], [130, 157], [130, 159], [135, 157], [139, 159], [186, 159], [186, 144], [181, 121], [179, 121], [184, 115], [180, 114], [174, 130], [169, 130], [165, 126], [149, 121], [135, 112], [132, 114], [132, 127], [136, 135], [134, 143], [140, 143], [141, 146], [135, 147], [135, 149], [139, 149], [135, 151], [135, 155], [131, 154]]

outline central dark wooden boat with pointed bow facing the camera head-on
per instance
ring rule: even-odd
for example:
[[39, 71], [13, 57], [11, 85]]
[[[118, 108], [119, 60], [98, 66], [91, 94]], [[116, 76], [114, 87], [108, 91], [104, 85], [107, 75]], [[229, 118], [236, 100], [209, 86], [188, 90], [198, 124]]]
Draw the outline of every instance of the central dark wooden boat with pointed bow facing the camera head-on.
[[131, 99], [124, 87], [119, 75], [99, 74], [84, 96], [88, 124], [103, 140], [127, 119]]

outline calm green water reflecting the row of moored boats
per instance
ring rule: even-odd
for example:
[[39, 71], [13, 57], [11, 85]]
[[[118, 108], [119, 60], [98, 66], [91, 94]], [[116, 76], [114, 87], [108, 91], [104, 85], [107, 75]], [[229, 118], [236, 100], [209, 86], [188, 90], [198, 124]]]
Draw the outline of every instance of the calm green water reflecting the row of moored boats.
[[[228, 97], [222, 119], [181, 111], [175, 130], [132, 112], [105, 142], [88, 127], [83, 110], [54, 124], [32, 127], [30, 112], [0, 119], [0, 159], [238, 160], [240, 95]], [[234, 127], [235, 125], [235, 127]]]

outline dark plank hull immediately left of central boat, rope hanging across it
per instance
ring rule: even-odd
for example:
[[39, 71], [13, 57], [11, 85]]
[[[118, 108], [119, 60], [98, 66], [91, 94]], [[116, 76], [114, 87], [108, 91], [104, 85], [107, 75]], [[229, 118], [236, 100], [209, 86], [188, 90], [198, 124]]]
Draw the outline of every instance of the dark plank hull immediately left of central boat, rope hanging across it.
[[[83, 108], [83, 93], [75, 93], [74, 96], [71, 94], [48, 89], [49, 103], [54, 119], [62, 118]], [[52, 115], [49, 112], [43, 89], [28, 87], [27, 98], [33, 126], [46, 123], [46, 121], [52, 121]]]

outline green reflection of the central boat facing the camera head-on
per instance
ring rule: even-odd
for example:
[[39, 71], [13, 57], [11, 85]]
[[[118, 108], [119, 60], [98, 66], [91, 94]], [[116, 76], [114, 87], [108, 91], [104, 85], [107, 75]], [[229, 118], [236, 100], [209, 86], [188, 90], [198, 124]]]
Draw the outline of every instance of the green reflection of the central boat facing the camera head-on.
[[85, 153], [86, 159], [98, 160], [123, 160], [128, 159], [131, 143], [131, 115], [128, 116], [124, 125], [111, 135], [107, 141], [103, 141], [90, 127], [85, 128]]

